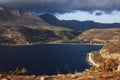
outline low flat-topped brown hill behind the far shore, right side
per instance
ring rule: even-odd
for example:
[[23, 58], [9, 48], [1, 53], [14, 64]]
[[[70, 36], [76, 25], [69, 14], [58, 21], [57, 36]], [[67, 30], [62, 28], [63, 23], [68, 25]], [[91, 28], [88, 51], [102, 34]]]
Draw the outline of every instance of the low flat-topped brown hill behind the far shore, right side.
[[120, 36], [120, 28], [102, 28], [86, 30], [77, 36], [75, 42], [100, 43], [109, 42], [114, 36]]

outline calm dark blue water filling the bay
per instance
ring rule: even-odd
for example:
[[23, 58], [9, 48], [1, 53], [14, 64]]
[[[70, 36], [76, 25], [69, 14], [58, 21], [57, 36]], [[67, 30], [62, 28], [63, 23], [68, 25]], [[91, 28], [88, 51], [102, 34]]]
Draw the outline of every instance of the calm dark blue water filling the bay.
[[84, 71], [90, 65], [87, 53], [99, 50], [99, 45], [62, 44], [0, 47], [0, 69], [27, 68], [33, 74], [57, 74]]

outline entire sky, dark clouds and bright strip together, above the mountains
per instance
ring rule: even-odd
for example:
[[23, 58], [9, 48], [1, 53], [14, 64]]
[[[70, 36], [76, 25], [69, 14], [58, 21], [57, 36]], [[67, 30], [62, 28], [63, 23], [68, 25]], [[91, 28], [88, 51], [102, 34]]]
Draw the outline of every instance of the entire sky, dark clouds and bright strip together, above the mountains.
[[120, 23], [120, 0], [0, 0], [0, 5], [37, 14], [51, 13], [60, 20]]

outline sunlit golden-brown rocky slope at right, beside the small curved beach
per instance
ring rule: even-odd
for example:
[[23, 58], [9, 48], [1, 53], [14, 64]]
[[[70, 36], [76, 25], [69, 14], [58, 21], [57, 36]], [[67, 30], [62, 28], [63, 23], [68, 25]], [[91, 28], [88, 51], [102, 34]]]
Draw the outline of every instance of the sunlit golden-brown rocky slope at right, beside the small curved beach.
[[[112, 59], [113, 62], [117, 62], [117, 70], [120, 70], [120, 36], [114, 36], [112, 40], [100, 51], [95, 51], [92, 53], [92, 61], [94, 61], [96, 64], [99, 64], [99, 66], [105, 62], [106, 60]], [[91, 60], [89, 60], [91, 62]], [[93, 62], [92, 62], [93, 63]], [[108, 61], [109, 63], [109, 61]], [[115, 65], [113, 65], [115, 66]]]

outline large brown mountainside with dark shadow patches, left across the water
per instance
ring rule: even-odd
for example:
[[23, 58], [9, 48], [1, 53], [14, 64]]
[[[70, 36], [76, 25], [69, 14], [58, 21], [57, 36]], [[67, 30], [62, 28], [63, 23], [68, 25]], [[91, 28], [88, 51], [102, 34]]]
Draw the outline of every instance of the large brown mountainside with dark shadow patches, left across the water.
[[73, 39], [78, 32], [56, 27], [30, 13], [0, 6], [0, 45], [26, 45]]

